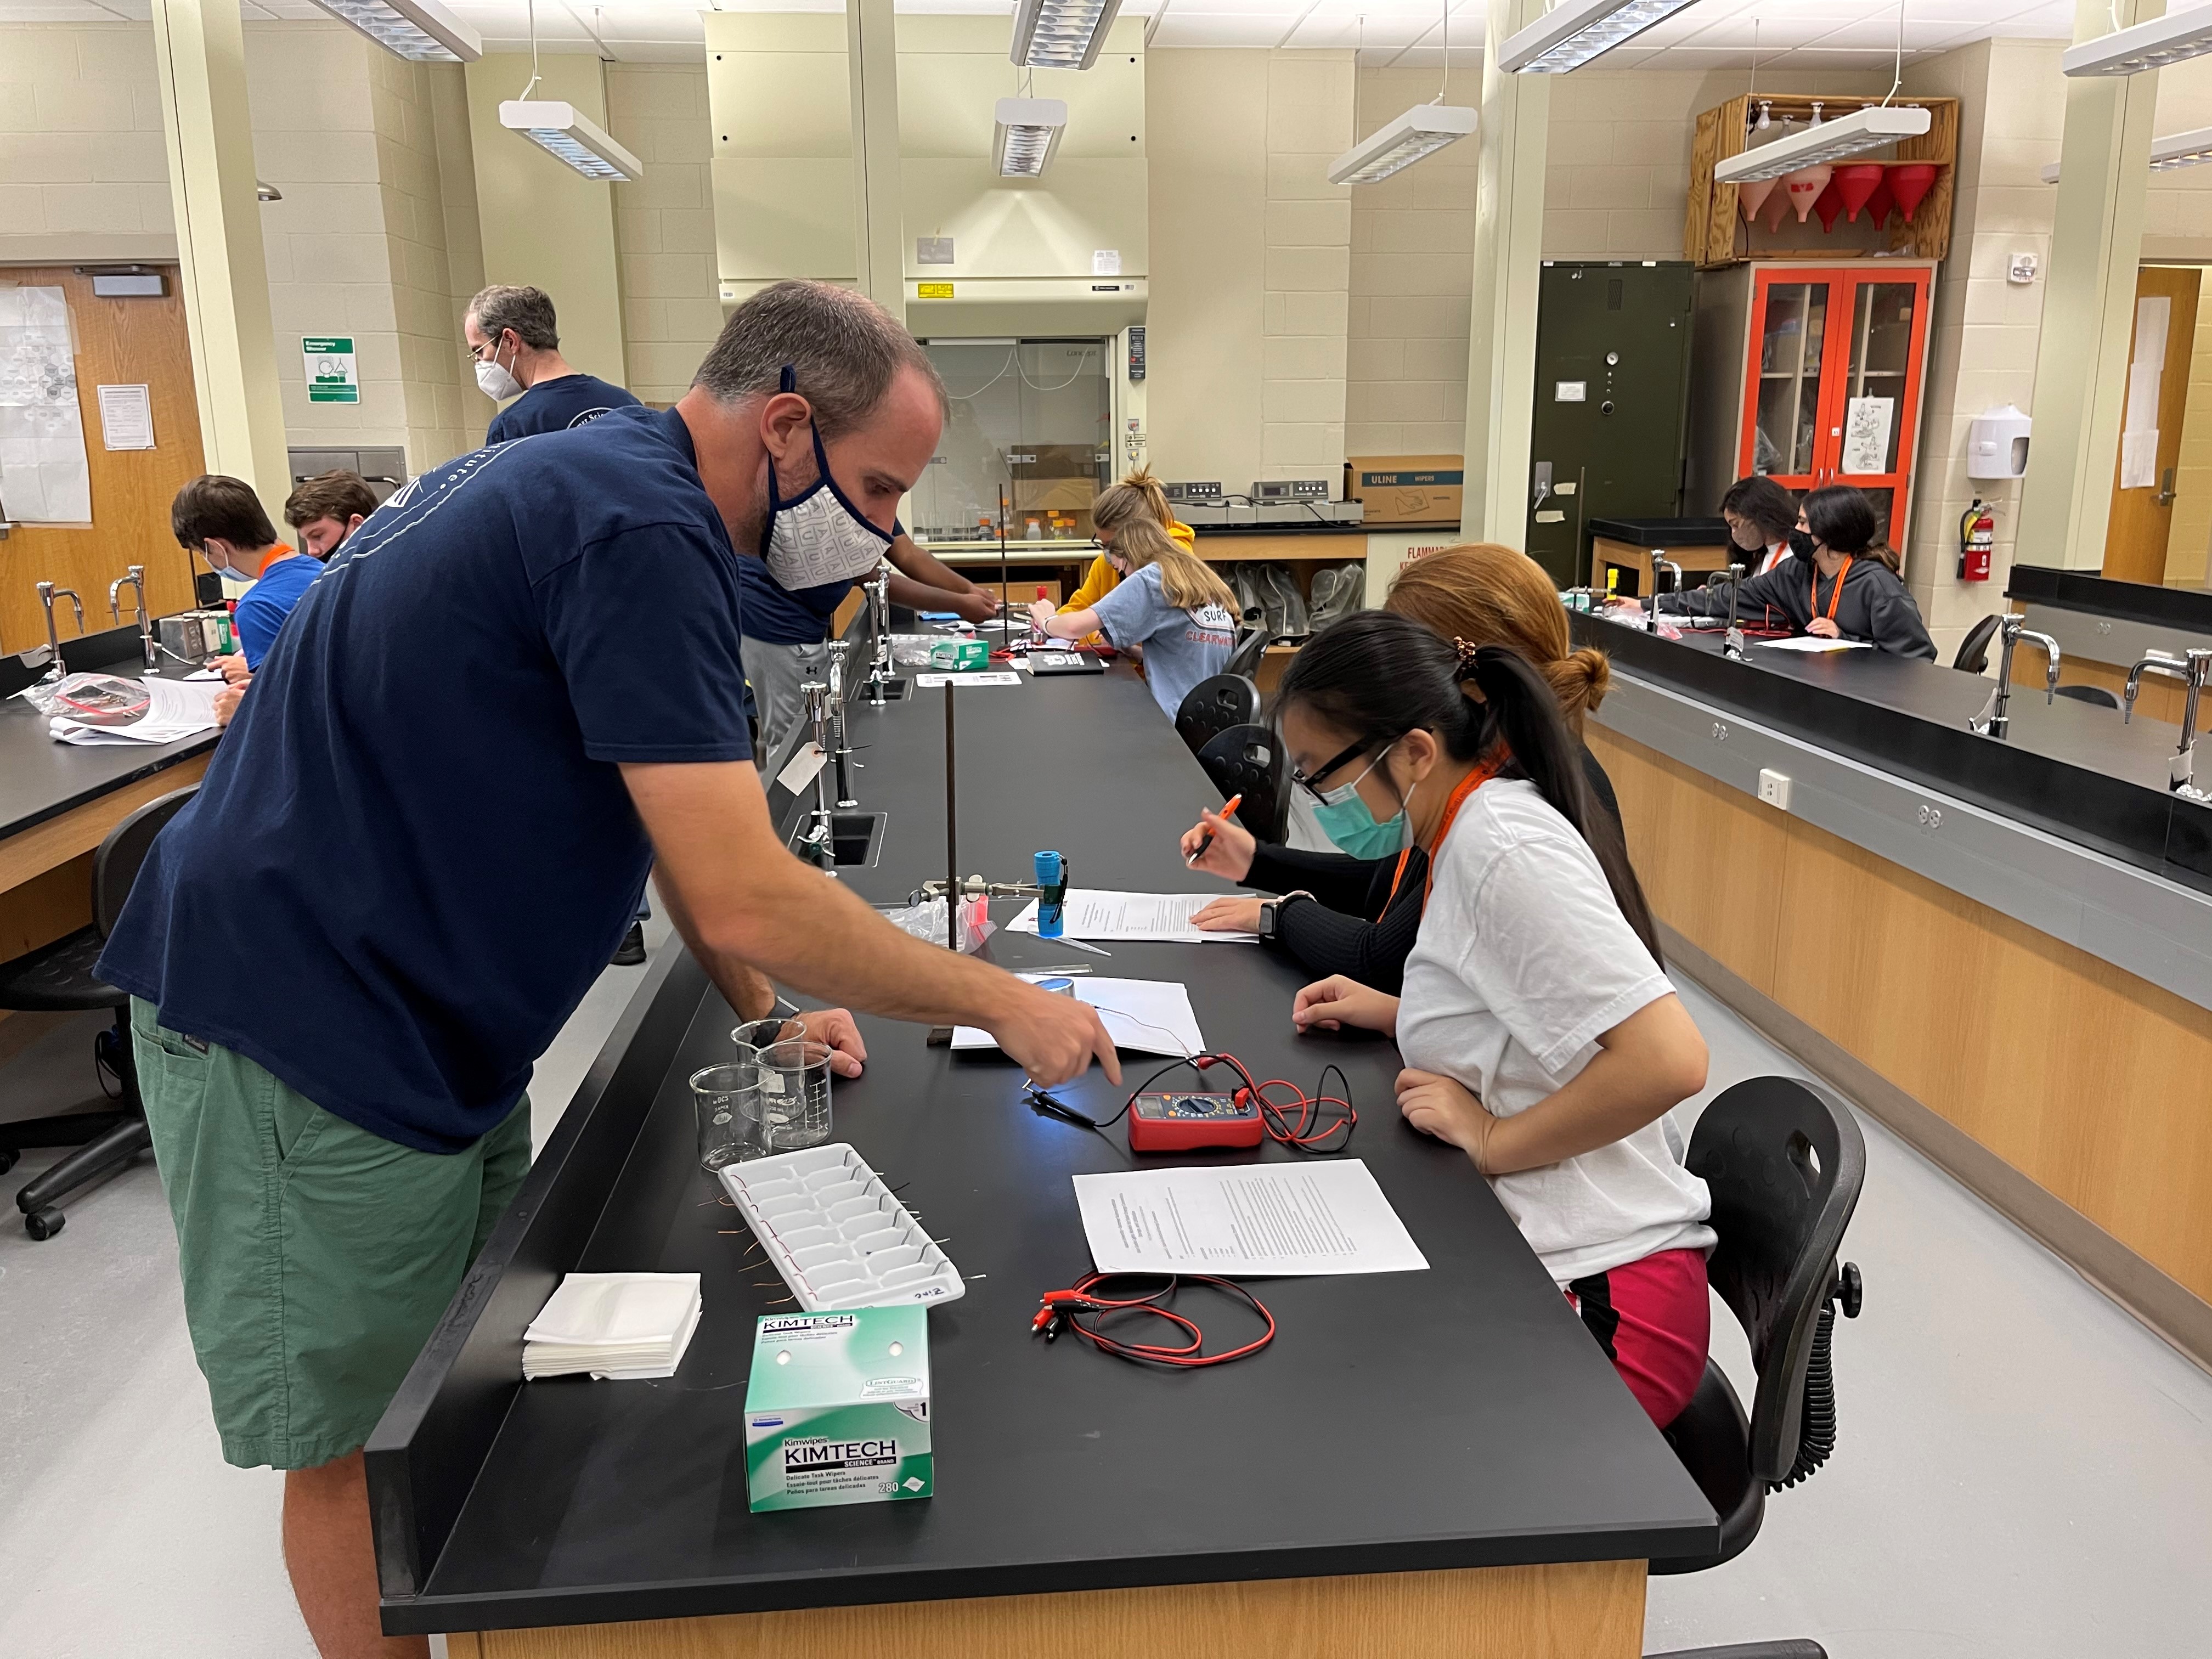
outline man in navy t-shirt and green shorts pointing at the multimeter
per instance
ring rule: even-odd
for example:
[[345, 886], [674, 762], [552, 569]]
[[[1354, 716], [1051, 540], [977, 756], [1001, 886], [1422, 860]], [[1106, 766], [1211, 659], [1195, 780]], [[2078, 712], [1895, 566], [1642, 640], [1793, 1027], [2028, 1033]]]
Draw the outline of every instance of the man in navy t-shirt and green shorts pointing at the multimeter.
[[[774, 975], [1119, 1082], [1088, 1004], [792, 858], [750, 763], [741, 560], [874, 560], [942, 409], [883, 310], [779, 283], [675, 409], [414, 480], [301, 597], [139, 872], [100, 975], [133, 998], [223, 1455], [290, 1471], [325, 1652], [376, 1630], [361, 1444], [524, 1175], [531, 1064], [648, 865], [741, 1018]], [[858, 1071], [843, 1009], [803, 1020]]]

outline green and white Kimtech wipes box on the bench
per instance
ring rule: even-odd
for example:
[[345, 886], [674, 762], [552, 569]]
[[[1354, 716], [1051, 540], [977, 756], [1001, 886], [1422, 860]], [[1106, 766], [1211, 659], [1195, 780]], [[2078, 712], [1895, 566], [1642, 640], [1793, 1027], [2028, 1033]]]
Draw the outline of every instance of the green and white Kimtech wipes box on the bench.
[[763, 1314], [745, 1380], [754, 1511], [929, 1498], [929, 1307]]

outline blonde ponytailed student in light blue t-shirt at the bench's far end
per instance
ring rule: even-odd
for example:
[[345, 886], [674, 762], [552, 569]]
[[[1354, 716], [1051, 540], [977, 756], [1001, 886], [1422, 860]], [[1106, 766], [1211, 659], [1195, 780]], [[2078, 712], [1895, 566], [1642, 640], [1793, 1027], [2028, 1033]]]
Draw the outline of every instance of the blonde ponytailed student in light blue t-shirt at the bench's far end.
[[1172, 721], [1197, 684], [1228, 666], [1237, 648], [1237, 595], [1150, 520], [1115, 531], [1106, 557], [1121, 573], [1113, 593], [1084, 611], [1053, 611], [1037, 599], [1029, 619], [1053, 639], [1104, 633], [1115, 646], [1141, 646], [1144, 684]]

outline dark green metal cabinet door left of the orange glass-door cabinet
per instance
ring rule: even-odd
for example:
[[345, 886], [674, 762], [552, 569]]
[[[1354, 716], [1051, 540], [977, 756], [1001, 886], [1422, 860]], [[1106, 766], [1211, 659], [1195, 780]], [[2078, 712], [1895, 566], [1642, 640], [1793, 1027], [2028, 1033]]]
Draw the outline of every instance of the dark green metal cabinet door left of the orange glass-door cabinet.
[[1544, 263], [1526, 549], [1562, 588], [1588, 577], [1593, 518], [1681, 513], [1694, 270]]

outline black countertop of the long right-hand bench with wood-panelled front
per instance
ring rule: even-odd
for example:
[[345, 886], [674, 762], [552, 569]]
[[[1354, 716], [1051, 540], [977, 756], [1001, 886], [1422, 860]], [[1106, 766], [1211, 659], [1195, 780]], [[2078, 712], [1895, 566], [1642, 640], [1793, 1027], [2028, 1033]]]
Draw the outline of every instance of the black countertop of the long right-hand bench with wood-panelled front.
[[[1995, 679], [1885, 650], [1721, 655], [1717, 630], [1661, 639], [1595, 613], [1573, 615], [1577, 646], [1628, 672], [1734, 710], [1885, 772], [2033, 823], [2170, 880], [2212, 891], [2212, 807], [2166, 787], [2179, 730], [2137, 712], [2059, 697], [2044, 703], [2042, 657], [2013, 664], [2011, 737], [1966, 721]], [[2024, 684], [2026, 681], [2026, 684]]]

